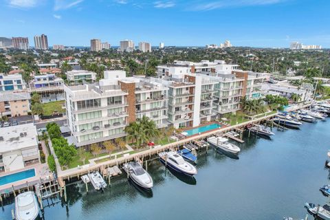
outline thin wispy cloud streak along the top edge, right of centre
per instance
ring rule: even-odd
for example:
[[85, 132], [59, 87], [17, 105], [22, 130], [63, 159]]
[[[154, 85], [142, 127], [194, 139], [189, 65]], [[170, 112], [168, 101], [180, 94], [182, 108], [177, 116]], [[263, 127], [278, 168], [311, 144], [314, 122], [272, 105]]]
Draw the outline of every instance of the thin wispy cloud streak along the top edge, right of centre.
[[241, 6], [253, 6], [253, 5], [272, 5], [276, 3], [281, 3], [287, 0], [222, 0], [222, 1], [212, 1], [209, 3], [199, 3], [190, 10], [196, 11], [208, 11], [218, 8], [227, 8], [227, 7], [241, 7]]

